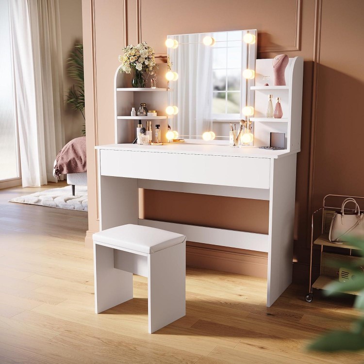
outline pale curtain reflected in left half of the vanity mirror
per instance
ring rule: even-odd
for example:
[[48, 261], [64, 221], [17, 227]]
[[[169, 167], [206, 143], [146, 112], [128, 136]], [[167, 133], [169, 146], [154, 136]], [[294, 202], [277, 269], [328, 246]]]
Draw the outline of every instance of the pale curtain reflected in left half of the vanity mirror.
[[[212, 130], [212, 47], [202, 43], [205, 34], [186, 34], [176, 37], [184, 47], [172, 57], [172, 70], [180, 77], [174, 92], [169, 93], [169, 105], [179, 107], [177, 125], [172, 121], [172, 130], [181, 135], [197, 135]], [[190, 44], [188, 44], [190, 43]], [[175, 54], [176, 54], [175, 53]], [[173, 81], [172, 81], [173, 83]], [[172, 87], [175, 87], [173, 83]], [[183, 105], [183, 107], [181, 107]]]

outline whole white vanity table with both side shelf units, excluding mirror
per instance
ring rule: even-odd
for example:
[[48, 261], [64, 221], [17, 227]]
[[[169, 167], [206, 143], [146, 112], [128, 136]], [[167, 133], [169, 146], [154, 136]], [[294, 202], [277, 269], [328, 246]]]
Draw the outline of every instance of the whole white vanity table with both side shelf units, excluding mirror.
[[[247, 54], [255, 60], [253, 52]], [[162, 64], [161, 72], [164, 66], [166, 71]], [[152, 123], [161, 124], [162, 137], [165, 135], [168, 116], [163, 115], [171, 89], [166, 84], [165, 88], [130, 88], [130, 80], [119, 69], [114, 83], [116, 144], [96, 147], [100, 230], [139, 224], [178, 232], [193, 242], [267, 252], [267, 306], [271, 306], [292, 281], [303, 59], [289, 59], [286, 86], [264, 86], [263, 75], [270, 76], [273, 83], [271, 59], [256, 60], [255, 80], [248, 80], [247, 94], [250, 101], [254, 100], [255, 110], [250, 119], [254, 123], [254, 146], [269, 145], [270, 132], [284, 133], [286, 149], [276, 151], [218, 144], [131, 144], [136, 119], [153, 119], [128, 116], [140, 102], [157, 110]], [[269, 94], [281, 98], [282, 119], [265, 117]], [[139, 219], [140, 188], [268, 200], [268, 234]]]

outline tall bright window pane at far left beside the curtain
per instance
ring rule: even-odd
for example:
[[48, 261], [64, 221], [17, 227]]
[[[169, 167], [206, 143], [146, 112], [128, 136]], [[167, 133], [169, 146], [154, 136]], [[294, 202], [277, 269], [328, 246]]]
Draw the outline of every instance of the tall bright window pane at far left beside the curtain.
[[8, 0], [0, 0], [0, 181], [19, 178]]

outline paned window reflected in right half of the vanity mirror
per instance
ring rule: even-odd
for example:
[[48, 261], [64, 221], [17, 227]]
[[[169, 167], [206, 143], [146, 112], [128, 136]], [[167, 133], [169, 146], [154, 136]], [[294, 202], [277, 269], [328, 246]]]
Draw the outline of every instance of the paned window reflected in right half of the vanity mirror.
[[214, 120], [240, 116], [242, 32], [214, 33], [213, 102]]

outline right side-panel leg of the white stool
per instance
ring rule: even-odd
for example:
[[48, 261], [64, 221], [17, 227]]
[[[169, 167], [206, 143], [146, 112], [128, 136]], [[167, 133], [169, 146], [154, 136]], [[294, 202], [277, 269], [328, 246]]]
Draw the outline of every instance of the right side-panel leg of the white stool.
[[148, 331], [186, 314], [186, 243], [148, 255]]

